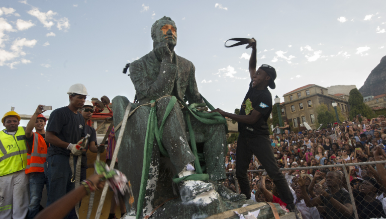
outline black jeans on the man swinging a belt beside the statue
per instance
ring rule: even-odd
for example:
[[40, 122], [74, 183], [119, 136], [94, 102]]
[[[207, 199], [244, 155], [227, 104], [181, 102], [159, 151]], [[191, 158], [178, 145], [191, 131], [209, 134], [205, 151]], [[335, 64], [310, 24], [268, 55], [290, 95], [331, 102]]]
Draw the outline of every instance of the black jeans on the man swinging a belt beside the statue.
[[236, 177], [240, 184], [241, 193], [245, 194], [247, 199], [251, 198], [247, 171], [253, 154], [259, 160], [260, 164], [263, 165], [269, 177], [273, 180], [280, 199], [284, 203], [293, 204], [294, 196], [292, 195], [291, 190], [289, 190], [284, 175], [279, 171], [276, 159], [273, 156], [271, 141], [269, 140], [268, 135], [265, 134], [249, 138], [240, 133], [239, 138], [237, 139]]

